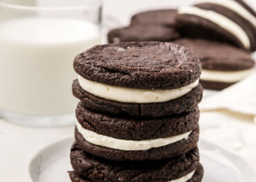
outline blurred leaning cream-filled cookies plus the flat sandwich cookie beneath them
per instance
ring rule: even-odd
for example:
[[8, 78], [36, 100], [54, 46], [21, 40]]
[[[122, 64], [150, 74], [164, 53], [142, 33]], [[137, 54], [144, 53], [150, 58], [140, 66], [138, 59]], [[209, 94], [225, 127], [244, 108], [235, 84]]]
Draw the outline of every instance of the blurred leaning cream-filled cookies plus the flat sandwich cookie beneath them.
[[256, 50], [256, 12], [244, 1], [199, 0], [183, 6], [176, 28], [190, 38], [176, 43], [191, 48], [202, 62], [203, 88], [222, 90], [255, 72], [250, 52]]

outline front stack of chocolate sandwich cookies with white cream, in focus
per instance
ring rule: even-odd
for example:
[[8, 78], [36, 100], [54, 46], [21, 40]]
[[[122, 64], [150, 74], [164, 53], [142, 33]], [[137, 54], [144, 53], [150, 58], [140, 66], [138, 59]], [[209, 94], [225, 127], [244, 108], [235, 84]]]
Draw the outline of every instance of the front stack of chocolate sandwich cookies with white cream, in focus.
[[201, 63], [181, 45], [96, 45], [75, 58], [71, 181], [198, 182]]

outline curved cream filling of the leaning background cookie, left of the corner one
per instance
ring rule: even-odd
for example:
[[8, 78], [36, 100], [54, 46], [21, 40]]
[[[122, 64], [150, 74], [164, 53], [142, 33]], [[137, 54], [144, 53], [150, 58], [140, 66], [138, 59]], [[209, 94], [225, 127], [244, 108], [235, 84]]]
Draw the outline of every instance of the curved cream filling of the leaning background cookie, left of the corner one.
[[239, 39], [239, 41], [241, 41], [245, 48], [250, 49], [250, 39], [243, 28], [222, 14], [212, 10], [203, 10], [194, 6], [181, 7], [179, 8], [178, 13], [192, 14], [197, 17], [202, 17], [203, 19], [208, 19], [209, 21], [212, 21], [213, 23], [219, 25], [221, 28], [233, 34], [235, 37], [237, 37], [237, 39]]

